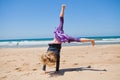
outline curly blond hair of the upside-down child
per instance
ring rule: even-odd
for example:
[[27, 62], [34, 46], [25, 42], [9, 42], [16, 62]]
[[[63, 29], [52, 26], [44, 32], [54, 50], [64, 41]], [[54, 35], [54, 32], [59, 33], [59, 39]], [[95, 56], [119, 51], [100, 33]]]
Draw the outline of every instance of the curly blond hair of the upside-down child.
[[48, 51], [47, 53], [42, 54], [41, 61], [45, 65], [53, 66], [56, 64], [57, 56], [56, 56], [55, 52]]

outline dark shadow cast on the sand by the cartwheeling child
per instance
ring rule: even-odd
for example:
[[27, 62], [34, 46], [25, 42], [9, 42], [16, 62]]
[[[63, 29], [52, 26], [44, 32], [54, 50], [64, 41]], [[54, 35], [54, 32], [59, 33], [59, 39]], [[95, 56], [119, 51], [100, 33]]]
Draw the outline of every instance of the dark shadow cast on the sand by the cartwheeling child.
[[80, 67], [80, 68], [67, 68], [67, 69], [60, 69], [58, 72], [55, 71], [50, 71], [48, 74], [50, 77], [55, 77], [55, 76], [63, 76], [65, 72], [72, 72], [72, 71], [107, 71], [106, 69], [94, 69], [91, 68], [91, 66], [88, 67]]

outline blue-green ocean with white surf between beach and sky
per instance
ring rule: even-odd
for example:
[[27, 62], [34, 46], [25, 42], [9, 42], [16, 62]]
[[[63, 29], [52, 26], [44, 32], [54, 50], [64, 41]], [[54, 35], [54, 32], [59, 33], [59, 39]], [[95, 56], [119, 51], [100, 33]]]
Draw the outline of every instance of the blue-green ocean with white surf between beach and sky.
[[[94, 39], [96, 45], [103, 44], [120, 44], [120, 36], [99, 36], [99, 37], [84, 37]], [[0, 40], [0, 48], [28, 48], [28, 47], [46, 47], [51, 43], [53, 38], [33, 38], [33, 39], [9, 39]], [[71, 42], [63, 43], [63, 46], [82, 46], [91, 45], [89, 42]]]

